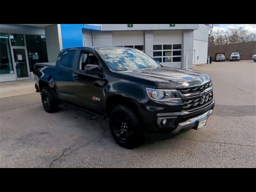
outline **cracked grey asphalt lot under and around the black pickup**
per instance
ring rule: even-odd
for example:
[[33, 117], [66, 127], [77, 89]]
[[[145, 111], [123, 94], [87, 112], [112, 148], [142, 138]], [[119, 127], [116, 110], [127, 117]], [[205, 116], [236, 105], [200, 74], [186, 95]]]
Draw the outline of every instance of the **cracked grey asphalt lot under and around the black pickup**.
[[0, 167], [256, 167], [256, 63], [195, 66], [209, 74], [216, 106], [206, 126], [146, 134], [128, 150], [112, 138], [108, 120], [74, 109], [49, 114], [38, 93], [0, 98]]

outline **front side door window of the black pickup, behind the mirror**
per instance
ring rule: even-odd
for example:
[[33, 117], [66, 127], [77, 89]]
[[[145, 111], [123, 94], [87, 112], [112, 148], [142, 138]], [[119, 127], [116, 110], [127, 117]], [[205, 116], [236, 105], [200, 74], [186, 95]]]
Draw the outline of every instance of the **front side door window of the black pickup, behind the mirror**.
[[82, 54], [80, 56], [80, 62], [78, 65], [78, 67], [79, 67], [78, 69], [84, 71], [85, 66], [88, 64], [99, 66], [99, 61], [94, 54], [84, 51], [84, 52], [82, 52]]

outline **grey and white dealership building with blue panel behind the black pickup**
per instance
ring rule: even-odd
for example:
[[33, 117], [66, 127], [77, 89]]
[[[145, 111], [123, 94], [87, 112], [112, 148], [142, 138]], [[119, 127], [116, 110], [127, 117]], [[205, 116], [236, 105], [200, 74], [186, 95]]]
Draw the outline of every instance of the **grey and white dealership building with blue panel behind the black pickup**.
[[164, 66], [206, 63], [205, 24], [0, 24], [0, 82], [33, 78], [35, 63], [56, 62], [60, 50], [124, 46]]

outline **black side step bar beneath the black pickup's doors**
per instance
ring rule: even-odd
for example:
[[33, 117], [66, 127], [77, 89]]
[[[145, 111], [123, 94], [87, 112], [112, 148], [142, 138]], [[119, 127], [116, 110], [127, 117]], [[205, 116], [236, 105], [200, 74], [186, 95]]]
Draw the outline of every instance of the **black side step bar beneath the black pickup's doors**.
[[63, 108], [63, 109], [69, 109], [69, 108], [73, 107], [75, 109], [75, 113], [77, 115], [82, 116], [86, 119], [90, 119], [90, 120], [94, 120], [94, 119], [97, 119], [97, 118], [106, 119], [105, 116], [102, 116], [100, 114], [96, 114], [94, 112], [91, 112], [91, 111], [83, 109], [83, 108], [79, 108], [77, 106], [74, 106], [74, 105], [66, 103], [66, 102], [60, 102], [60, 104], [58, 106], [60, 108]]

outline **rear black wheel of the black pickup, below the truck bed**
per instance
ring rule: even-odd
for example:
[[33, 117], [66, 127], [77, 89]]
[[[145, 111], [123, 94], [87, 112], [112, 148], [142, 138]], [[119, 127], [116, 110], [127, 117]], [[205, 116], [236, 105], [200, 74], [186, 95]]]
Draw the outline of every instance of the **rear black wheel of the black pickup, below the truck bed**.
[[41, 100], [46, 112], [53, 113], [58, 111], [58, 102], [52, 97], [52, 93], [48, 87], [42, 89]]

